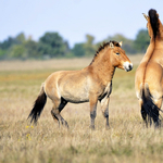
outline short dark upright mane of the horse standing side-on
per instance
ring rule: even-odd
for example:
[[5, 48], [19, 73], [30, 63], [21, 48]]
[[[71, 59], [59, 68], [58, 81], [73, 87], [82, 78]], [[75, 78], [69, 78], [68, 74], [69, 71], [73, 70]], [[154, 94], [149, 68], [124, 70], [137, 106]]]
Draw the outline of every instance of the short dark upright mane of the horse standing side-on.
[[111, 42], [112, 42], [115, 47], [121, 47], [120, 43], [118, 43], [117, 41], [114, 41], [114, 40], [110, 40], [109, 42], [103, 42], [103, 43], [99, 47], [99, 49], [97, 50], [97, 52], [96, 52], [96, 54], [95, 54], [95, 57], [93, 57], [93, 59], [92, 59], [90, 65], [92, 64], [92, 62], [95, 62], [95, 59], [97, 58], [97, 55], [98, 55], [105, 47], [108, 47]]

